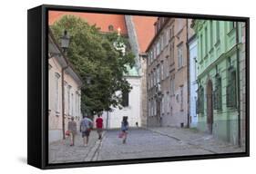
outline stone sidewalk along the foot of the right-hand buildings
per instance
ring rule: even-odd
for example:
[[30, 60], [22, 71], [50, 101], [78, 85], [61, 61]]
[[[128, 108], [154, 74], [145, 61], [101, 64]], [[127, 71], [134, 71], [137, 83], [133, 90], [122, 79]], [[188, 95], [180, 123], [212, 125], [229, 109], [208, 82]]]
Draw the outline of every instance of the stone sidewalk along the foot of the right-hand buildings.
[[211, 153], [233, 153], [242, 152], [242, 149], [229, 142], [216, 140], [212, 135], [187, 128], [159, 127], [147, 128], [149, 131], [157, 132], [178, 140], [182, 144], [189, 144], [197, 148], [208, 150]]

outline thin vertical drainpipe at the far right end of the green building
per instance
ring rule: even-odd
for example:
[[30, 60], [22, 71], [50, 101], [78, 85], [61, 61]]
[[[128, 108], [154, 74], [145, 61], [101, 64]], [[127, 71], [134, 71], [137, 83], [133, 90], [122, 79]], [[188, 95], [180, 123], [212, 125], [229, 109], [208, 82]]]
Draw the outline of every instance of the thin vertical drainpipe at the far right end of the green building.
[[237, 51], [237, 82], [238, 82], [238, 144], [241, 147], [241, 96], [240, 96], [240, 54], [239, 54], [239, 25], [236, 23], [236, 51]]

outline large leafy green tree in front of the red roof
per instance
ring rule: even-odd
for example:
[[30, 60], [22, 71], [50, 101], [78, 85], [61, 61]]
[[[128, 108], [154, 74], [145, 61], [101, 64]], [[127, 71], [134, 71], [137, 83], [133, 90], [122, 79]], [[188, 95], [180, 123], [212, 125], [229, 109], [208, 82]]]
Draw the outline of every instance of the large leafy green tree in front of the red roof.
[[130, 49], [123, 55], [113, 43], [118, 41], [128, 46], [128, 39], [117, 33], [102, 34], [96, 25], [89, 25], [74, 15], [64, 15], [51, 29], [56, 38], [64, 30], [71, 37], [67, 59], [83, 81], [82, 112], [96, 114], [110, 111], [111, 106], [121, 108], [122, 97], [118, 92], [131, 90], [124, 74], [128, 73], [127, 66], [132, 68], [135, 64], [135, 56]]

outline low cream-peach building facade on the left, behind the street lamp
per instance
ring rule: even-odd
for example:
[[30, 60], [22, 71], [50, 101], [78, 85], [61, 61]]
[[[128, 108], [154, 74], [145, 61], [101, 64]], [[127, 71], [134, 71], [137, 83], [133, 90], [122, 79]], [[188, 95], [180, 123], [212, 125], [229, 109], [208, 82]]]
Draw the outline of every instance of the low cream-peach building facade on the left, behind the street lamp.
[[71, 117], [79, 125], [82, 116], [82, 81], [61, 52], [51, 32], [48, 42], [48, 138], [51, 143], [64, 138], [67, 122]]

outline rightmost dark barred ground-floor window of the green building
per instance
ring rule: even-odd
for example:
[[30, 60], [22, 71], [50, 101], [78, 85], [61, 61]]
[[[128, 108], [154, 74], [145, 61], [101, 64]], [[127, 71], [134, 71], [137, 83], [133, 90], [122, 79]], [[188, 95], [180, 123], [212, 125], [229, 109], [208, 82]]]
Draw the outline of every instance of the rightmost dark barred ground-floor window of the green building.
[[236, 71], [233, 66], [229, 68], [227, 84], [227, 107], [236, 107], [237, 104], [237, 82]]

